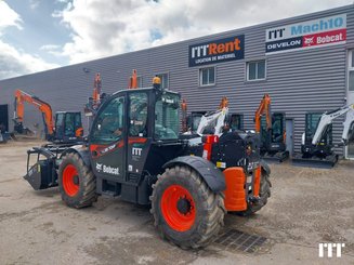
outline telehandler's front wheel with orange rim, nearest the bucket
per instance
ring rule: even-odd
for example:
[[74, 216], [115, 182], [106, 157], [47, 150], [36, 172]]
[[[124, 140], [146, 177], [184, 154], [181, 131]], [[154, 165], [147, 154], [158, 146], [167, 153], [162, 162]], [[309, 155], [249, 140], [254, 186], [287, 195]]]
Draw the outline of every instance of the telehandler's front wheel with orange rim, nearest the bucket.
[[63, 157], [58, 169], [62, 200], [71, 208], [90, 207], [97, 200], [96, 178], [78, 154]]

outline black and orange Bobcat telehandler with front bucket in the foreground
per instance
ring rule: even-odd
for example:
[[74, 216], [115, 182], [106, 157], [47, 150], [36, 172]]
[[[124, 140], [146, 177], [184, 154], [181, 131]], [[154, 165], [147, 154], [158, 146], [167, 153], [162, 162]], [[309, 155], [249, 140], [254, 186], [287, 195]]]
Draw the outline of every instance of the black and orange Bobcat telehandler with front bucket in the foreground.
[[[58, 185], [71, 208], [92, 206], [100, 195], [150, 204], [163, 238], [205, 247], [226, 212], [252, 214], [266, 204], [270, 168], [257, 134], [181, 138], [180, 103], [179, 93], [157, 87], [118, 91], [100, 106], [83, 145], [28, 150], [25, 178], [35, 189]], [[32, 154], [39, 159], [30, 167]]]

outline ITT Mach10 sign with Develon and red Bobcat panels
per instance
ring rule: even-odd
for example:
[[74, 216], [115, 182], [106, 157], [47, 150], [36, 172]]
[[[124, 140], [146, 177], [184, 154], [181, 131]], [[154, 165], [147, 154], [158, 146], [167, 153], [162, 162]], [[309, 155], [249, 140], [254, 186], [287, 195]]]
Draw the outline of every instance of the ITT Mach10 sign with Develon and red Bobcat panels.
[[346, 14], [270, 28], [265, 31], [265, 53], [345, 43]]

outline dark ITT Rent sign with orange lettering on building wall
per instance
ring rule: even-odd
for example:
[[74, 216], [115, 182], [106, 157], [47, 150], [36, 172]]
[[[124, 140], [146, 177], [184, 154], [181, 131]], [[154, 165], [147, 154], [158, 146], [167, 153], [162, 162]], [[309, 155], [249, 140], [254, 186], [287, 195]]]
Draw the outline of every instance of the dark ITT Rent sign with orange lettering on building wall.
[[189, 67], [245, 57], [245, 35], [189, 45]]

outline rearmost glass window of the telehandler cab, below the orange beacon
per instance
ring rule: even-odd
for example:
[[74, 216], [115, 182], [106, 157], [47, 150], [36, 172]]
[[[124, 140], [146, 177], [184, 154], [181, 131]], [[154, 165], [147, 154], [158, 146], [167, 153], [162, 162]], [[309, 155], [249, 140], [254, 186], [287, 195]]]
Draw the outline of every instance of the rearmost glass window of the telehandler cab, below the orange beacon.
[[176, 140], [180, 132], [180, 96], [165, 93], [155, 105], [155, 140]]

